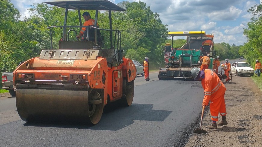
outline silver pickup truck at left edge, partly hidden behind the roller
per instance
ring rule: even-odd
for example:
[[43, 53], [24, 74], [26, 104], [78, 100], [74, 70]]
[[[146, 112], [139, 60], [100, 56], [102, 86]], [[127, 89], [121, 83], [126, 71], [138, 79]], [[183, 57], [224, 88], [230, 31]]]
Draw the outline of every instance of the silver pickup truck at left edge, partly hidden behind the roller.
[[[20, 62], [21, 65], [23, 62]], [[14, 88], [13, 84], [13, 72], [3, 72], [2, 73], [2, 89], [9, 90], [11, 96], [15, 97], [16, 89]]]

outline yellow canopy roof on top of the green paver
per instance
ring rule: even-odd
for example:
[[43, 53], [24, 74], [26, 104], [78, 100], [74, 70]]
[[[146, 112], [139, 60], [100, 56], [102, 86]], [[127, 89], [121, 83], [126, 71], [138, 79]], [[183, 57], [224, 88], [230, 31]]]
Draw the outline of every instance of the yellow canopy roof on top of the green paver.
[[168, 32], [170, 36], [205, 36], [214, 38], [214, 34], [206, 34], [205, 31]]

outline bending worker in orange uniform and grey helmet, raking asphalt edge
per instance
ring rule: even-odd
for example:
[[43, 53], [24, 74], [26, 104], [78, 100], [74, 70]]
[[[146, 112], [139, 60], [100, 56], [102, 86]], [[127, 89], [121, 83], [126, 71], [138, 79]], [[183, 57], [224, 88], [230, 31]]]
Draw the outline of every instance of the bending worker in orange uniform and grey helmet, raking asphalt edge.
[[[206, 128], [217, 129], [217, 125], [227, 125], [227, 112], [224, 98], [226, 92], [225, 85], [221, 82], [217, 74], [210, 69], [200, 70], [195, 67], [191, 70], [191, 75], [195, 80], [201, 80], [202, 87], [204, 88], [205, 96], [202, 106], [207, 106], [210, 101], [212, 124], [206, 126]], [[222, 116], [222, 120], [217, 123], [218, 113]]]

